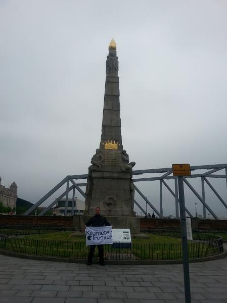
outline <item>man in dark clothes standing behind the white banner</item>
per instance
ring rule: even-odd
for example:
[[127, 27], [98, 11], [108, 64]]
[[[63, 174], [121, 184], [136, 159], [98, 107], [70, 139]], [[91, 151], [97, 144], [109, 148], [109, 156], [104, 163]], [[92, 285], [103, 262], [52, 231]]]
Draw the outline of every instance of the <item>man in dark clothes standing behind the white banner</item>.
[[[94, 217], [90, 218], [87, 223], [85, 224], [86, 226], [110, 226], [111, 224], [107, 221], [107, 219], [103, 216], [100, 215], [100, 208], [96, 208], [96, 214]], [[104, 251], [103, 251], [103, 245], [97, 245], [99, 249], [99, 263], [102, 266], [105, 266], [104, 264]], [[87, 259], [87, 264], [86, 265], [92, 265], [92, 259], [94, 256], [94, 251], [95, 251], [96, 245], [90, 245], [89, 248], [89, 255]]]

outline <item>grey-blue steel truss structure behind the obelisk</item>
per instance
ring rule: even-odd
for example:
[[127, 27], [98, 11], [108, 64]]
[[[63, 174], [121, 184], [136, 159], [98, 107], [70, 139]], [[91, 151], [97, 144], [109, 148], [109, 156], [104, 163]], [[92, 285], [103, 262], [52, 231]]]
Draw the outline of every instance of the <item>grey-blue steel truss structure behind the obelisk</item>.
[[[214, 213], [214, 211], [206, 204], [205, 198], [205, 187], [204, 182], [210, 187], [210, 189], [214, 192], [223, 206], [227, 209], [227, 204], [225, 203], [224, 199], [219, 195], [217, 190], [213, 187], [213, 185], [209, 182], [208, 178], [225, 178], [226, 179], [226, 187], [227, 187], [227, 164], [212, 164], [212, 165], [200, 165], [200, 166], [191, 166], [191, 171], [197, 170], [207, 170], [205, 173], [196, 173], [192, 174], [191, 176], [184, 177], [185, 184], [191, 189], [191, 191], [195, 194], [195, 196], [200, 200], [203, 205], [203, 218], [206, 218], [206, 210], [214, 217], [215, 220], [218, 220], [218, 217]], [[219, 172], [220, 170], [225, 170], [224, 174], [214, 174]], [[157, 177], [148, 177], [148, 178], [133, 178], [135, 182], [144, 182], [144, 181], [155, 181], [159, 180], [159, 187], [160, 187], [160, 212], [152, 205], [152, 203], [148, 200], [148, 198], [142, 193], [142, 191], [134, 185], [135, 190], [139, 193], [139, 195], [146, 201], [146, 203], [153, 209], [153, 211], [157, 214], [158, 217], [163, 217], [163, 199], [162, 199], [162, 185], [164, 185], [169, 192], [175, 198], [175, 215], [176, 218], [179, 218], [178, 213], [178, 189], [177, 189], [177, 177], [171, 176], [172, 168], [158, 168], [158, 169], [146, 169], [146, 170], [134, 170], [132, 172], [133, 176], [139, 176], [143, 174], [163, 174]], [[46, 201], [53, 193], [55, 193], [60, 187], [66, 184], [66, 190], [57, 198], [55, 199], [47, 208], [45, 208], [39, 215], [44, 215], [48, 210], [50, 210], [53, 206], [55, 206], [59, 200], [61, 200], [65, 196], [65, 216], [68, 215], [68, 197], [69, 192], [72, 190], [72, 205], [75, 205], [75, 190], [77, 190], [83, 197], [85, 197], [85, 192], [81, 189], [81, 187], [86, 186], [86, 183], [77, 183], [77, 180], [82, 180], [88, 178], [88, 175], [72, 175], [65, 177], [61, 182], [59, 182], [55, 187], [53, 187], [46, 195], [44, 195], [40, 200], [37, 201], [28, 211], [24, 213], [25, 216], [31, 214], [33, 210], [35, 210], [38, 206], [40, 206], [44, 201]], [[201, 188], [202, 188], [202, 196], [195, 190], [195, 188], [190, 184], [190, 178], [201, 178]], [[174, 180], [174, 191], [169, 187], [165, 180]], [[226, 192], [227, 196], [227, 192]], [[147, 215], [146, 211], [142, 208], [142, 206], [134, 200], [135, 205], [137, 205], [140, 210]], [[75, 207], [75, 206], [74, 206]], [[188, 215], [192, 218], [193, 215], [189, 212], [187, 208], [185, 208]], [[72, 207], [72, 215], [73, 215], [73, 207]]]

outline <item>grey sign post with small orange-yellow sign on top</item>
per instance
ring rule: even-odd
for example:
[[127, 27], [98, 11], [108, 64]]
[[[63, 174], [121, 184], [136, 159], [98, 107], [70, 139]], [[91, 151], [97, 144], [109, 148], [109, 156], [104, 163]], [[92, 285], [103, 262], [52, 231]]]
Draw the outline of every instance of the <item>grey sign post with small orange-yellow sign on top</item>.
[[190, 176], [191, 170], [189, 164], [173, 164], [173, 176], [178, 177], [179, 190], [179, 209], [180, 209], [180, 229], [183, 249], [184, 283], [185, 283], [185, 301], [191, 303], [190, 275], [189, 275], [189, 253], [187, 241], [187, 225], [185, 214], [185, 193], [183, 176]]

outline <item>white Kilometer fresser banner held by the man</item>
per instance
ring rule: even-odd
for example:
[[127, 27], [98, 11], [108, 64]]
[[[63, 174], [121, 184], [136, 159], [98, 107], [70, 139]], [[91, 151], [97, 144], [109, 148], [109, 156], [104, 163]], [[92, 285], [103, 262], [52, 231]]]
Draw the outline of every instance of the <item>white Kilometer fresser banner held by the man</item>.
[[112, 226], [86, 227], [86, 245], [113, 244]]

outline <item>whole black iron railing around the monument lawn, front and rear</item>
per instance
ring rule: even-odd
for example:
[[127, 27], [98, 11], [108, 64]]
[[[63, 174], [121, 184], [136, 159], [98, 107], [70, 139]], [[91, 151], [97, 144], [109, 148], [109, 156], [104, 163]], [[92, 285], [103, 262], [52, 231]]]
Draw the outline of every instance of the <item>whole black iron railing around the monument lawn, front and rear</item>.
[[[25, 235], [45, 234], [69, 230], [57, 225], [0, 225], [0, 250], [18, 254], [86, 259], [89, 251], [85, 241], [55, 239], [35, 239]], [[72, 229], [71, 229], [72, 230]], [[149, 234], [180, 238], [180, 230], [146, 230]], [[212, 231], [211, 231], [212, 233]], [[173, 260], [182, 258], [180, 242], [142, 242], [104, 245], [105, 258], [109, 260]], [[125, 246], [125, 247], [124, 247]], [[189, 258], [202, 258], [220, 254], [223, 251], [222, 237], [216, 234], [193, 231], [193, 241], [188, 242]], [[95, 258], [98, 258], [96, 252]]]

